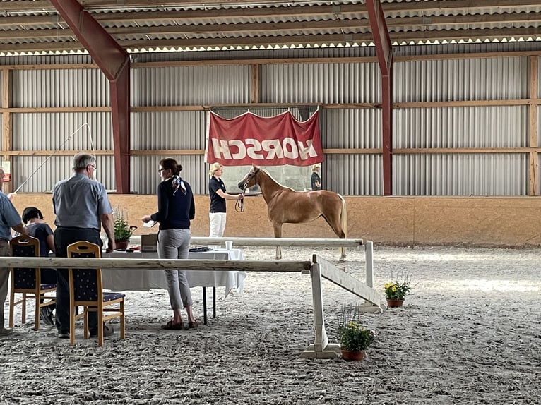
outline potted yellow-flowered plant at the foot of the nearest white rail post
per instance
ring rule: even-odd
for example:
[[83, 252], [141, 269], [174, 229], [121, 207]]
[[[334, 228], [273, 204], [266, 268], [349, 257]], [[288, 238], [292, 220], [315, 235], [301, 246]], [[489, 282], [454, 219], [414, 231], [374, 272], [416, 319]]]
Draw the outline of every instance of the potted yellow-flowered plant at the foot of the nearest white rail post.
[[364, 358], [364, 351], [374, 341], [374, 331], [362, 327], [359, 320], [359, 308], [355, 306], [353, 316], [347, 316], [352, 313], [352, 307], [342, 307], [342, 320], [338, 327], [338, 339], [340, 339], [340, 349], [342, 358], [345, 361], [359, 361]]

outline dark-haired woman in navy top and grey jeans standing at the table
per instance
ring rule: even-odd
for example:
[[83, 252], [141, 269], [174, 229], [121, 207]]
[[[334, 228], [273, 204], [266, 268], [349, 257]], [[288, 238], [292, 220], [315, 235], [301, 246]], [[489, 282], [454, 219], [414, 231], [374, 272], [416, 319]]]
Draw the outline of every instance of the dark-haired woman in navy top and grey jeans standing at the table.
[[[162, 182], [157, 186], [157, 212], [145, 215], [143, 222], [160, 222], [157, 234], [157, 253], [160, 259], [186, 259], [190, 248], [190, 221], [196, 216], [194, 194], [189, 183], [180, 176], [182, 165], [174, 159], [162, 159], [158, 173]], [[181, 330], [182, 307], [188, 315], [188, 327], [198, 326], [191, 310], [191, 292], [185, 270], [165, 270], [167, 291], [173, 318], [162, 329]]]

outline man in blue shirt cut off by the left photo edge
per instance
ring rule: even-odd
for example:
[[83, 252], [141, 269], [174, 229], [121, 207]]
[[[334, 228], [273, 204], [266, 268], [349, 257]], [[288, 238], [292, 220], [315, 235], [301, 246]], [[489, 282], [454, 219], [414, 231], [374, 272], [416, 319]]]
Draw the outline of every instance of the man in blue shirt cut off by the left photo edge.
[[[4, 185], [4, 170], [0, 168], [0, 190]], [[0, 191], [0, 256], [9, 256], [9, 241], [11, 241], [11, 229], [23, 235], [28, 231], [23, 225], [13, 203], [8, 196]], [[8, 296], [9, 269], [0, 267], [0, 336], [11, 334], [11, 329], [4, 328], [4, 303]]]

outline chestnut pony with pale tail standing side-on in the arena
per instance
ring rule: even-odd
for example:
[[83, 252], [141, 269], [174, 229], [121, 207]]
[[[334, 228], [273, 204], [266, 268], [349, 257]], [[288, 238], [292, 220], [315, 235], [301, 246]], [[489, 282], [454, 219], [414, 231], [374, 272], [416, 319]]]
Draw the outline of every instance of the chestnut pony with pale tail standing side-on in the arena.
[[[239, 188], [258, 185], [263, 199], [267, 203], [268, 219], [274, 226], [274, 237], [282, 237], [282, 224], [300, 224], [314, 221], [323, 217], [331, 226], [338, 238], [346, 237], [347, 213], [345, 200], [333, 191], [295, 191], [292, 188], [280, 186], [268, 172], [253, 166], [244, 179], [239, 182]], [[282, 258], [280, 246], [276, 246], [276, 260]], [[340, 248], [340, 261], [345, 259], [345, 248]]]

